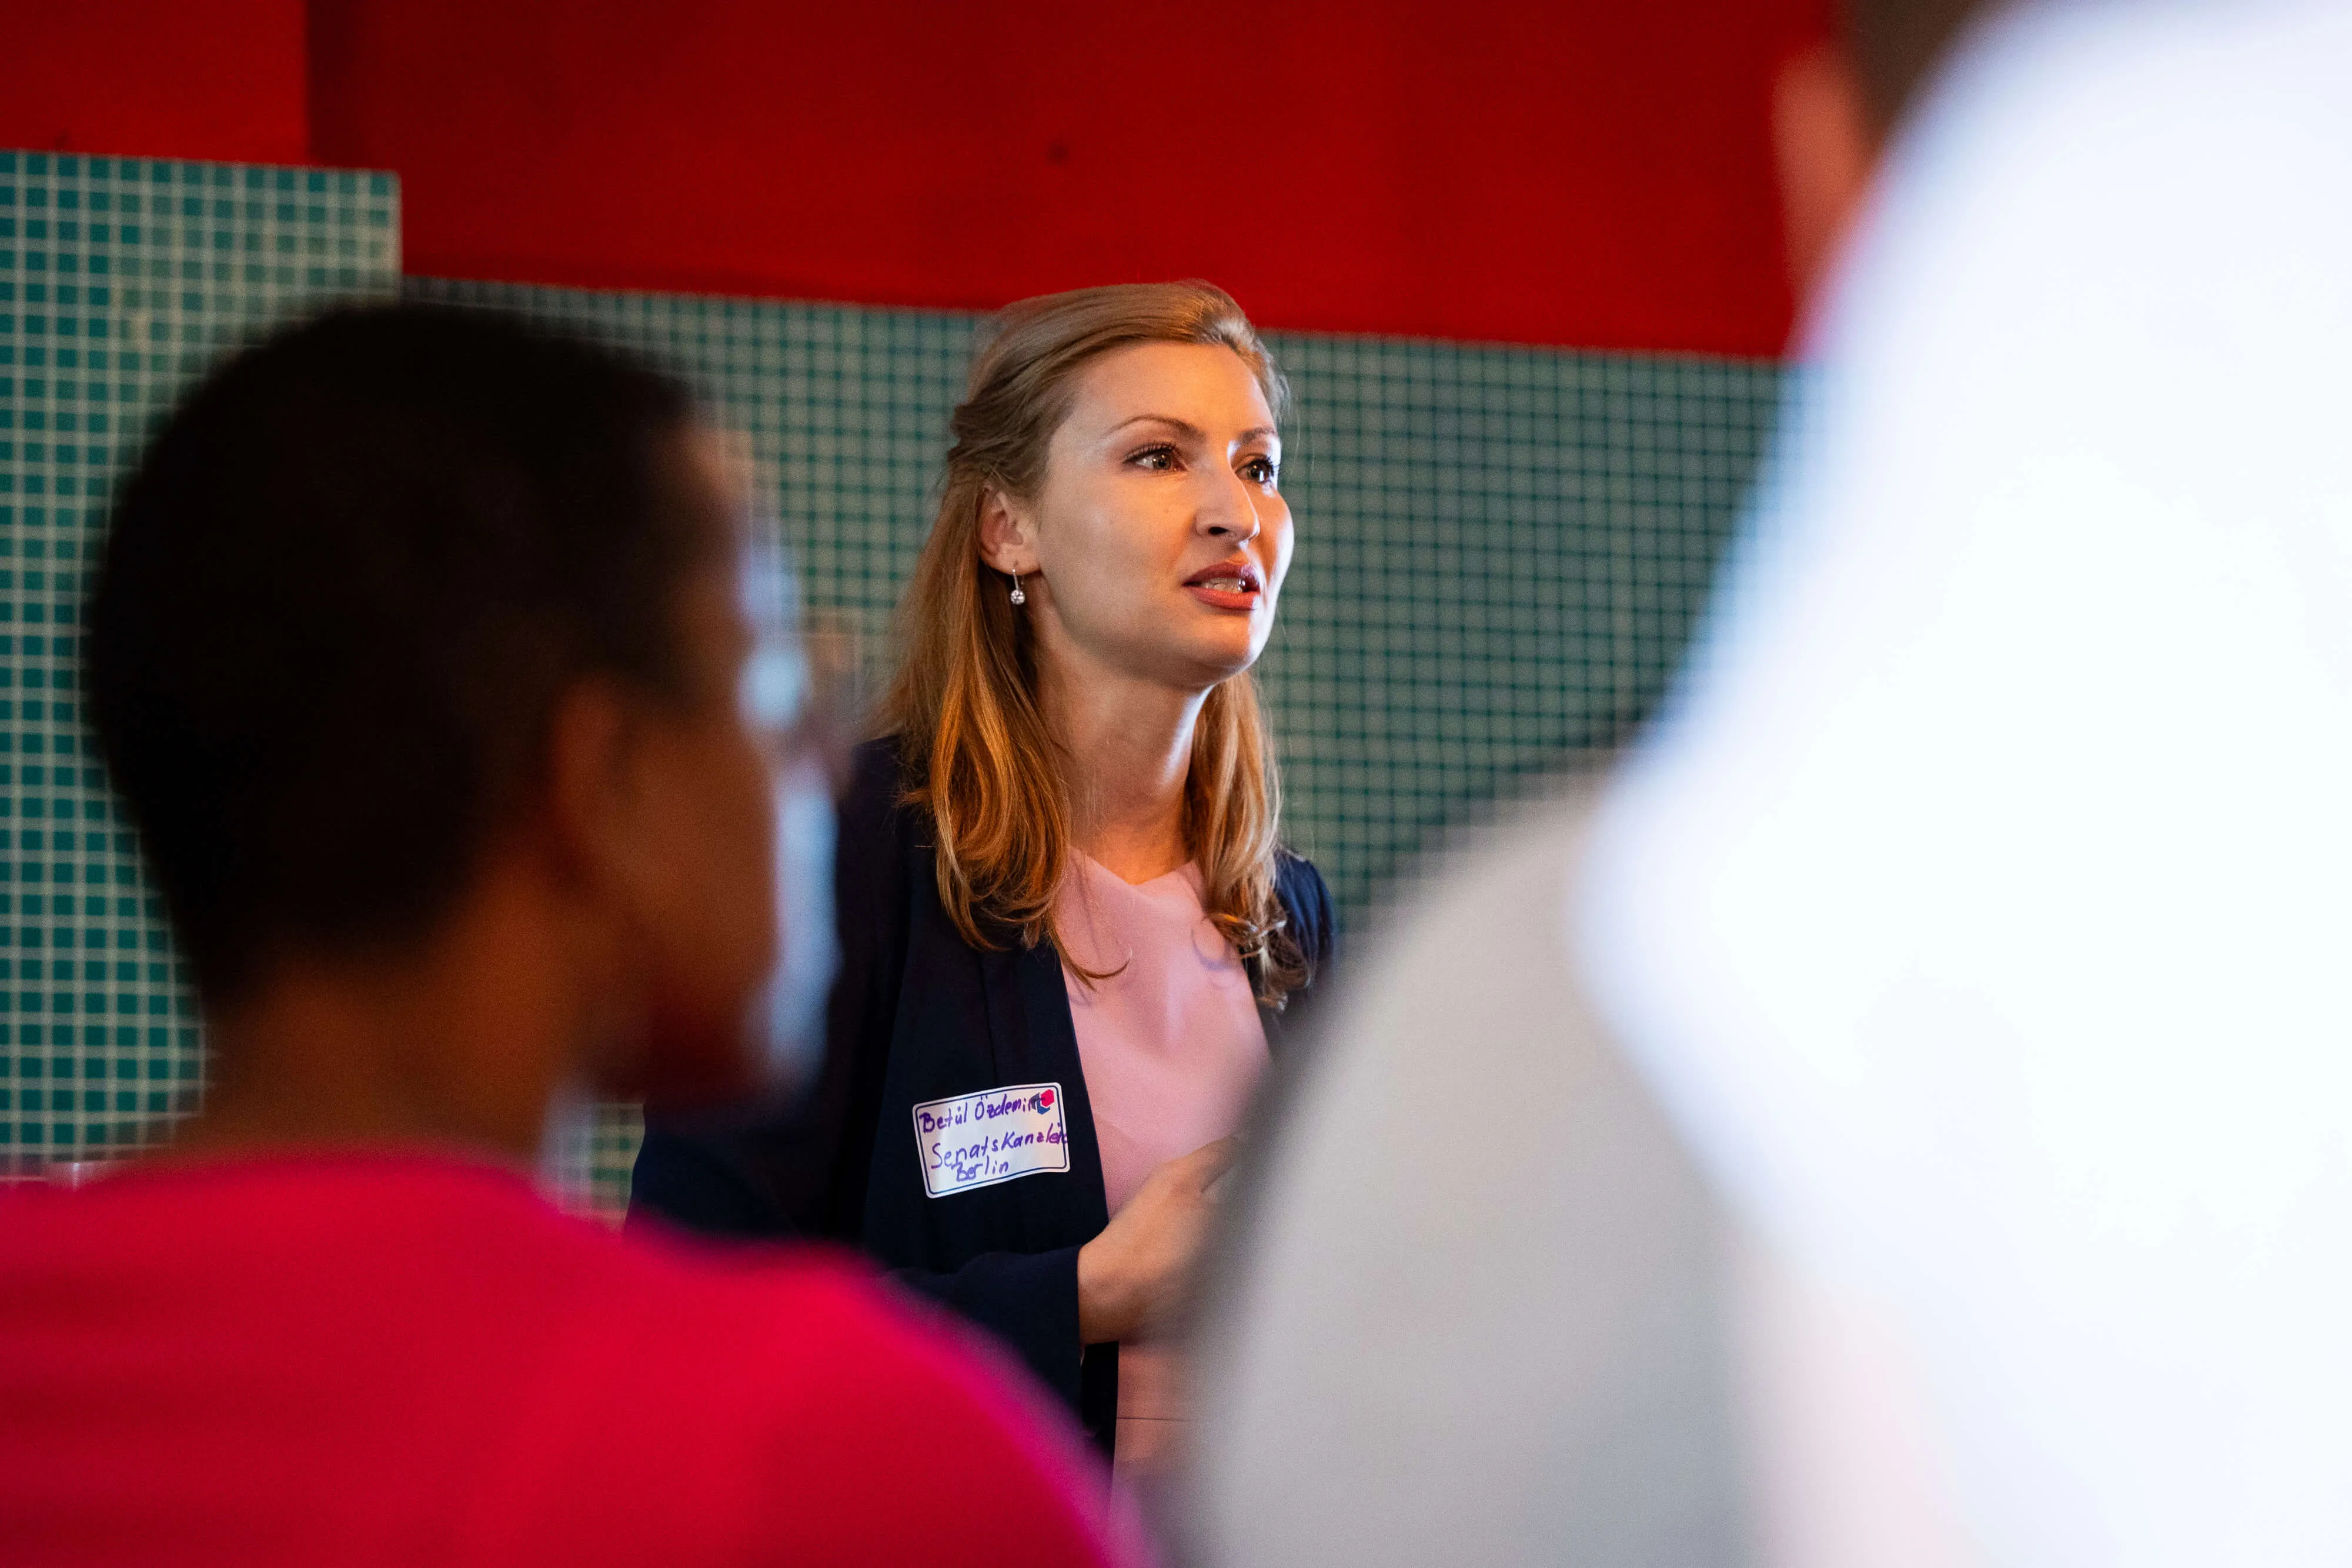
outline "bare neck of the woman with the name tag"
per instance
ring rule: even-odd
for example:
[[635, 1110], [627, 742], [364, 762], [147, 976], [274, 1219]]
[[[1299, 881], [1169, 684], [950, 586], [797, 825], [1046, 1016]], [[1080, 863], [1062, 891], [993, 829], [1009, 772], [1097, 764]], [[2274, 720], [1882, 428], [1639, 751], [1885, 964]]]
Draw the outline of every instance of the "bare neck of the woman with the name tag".
[[1150, 882], [1190, 860], [1183, 785], [1209, 693], [1042, 663], [1040, 698], [1063, 745], [1077, 846], [1122, 882]]

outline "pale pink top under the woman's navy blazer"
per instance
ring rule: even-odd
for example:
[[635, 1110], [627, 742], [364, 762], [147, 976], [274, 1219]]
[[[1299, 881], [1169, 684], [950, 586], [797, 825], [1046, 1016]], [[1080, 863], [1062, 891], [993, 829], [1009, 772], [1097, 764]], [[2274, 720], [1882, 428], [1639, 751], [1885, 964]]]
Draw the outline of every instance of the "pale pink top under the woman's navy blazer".
[[[1197, 865], [1143, 884], [1075, 856], [1061, 900], [1077, 1060], [1103, 1147], [1103, 1194], [1120, 1213], [1155, 1168], [1242, 1124], [1265, 1072], [1265, 1025], [1232, 943], [1209, 924]], [[1183, 1420], [1176, 1368], [1155, 1345], [1120, 1347], [1120, 1469], [1157, 1469]]]

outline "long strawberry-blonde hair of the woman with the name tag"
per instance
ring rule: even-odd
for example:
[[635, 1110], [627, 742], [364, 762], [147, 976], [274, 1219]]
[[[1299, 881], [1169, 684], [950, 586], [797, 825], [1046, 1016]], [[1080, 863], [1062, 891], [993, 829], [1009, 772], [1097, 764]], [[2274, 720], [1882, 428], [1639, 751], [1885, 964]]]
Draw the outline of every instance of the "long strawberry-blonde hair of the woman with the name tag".
[[[1131, 343], [1216, 343], [1249, 364], [1279, 421], [1289, 388], [1230, 294], [1207, 282], [1110, 284], [1009, 306], [971, 357], [950, 421], [931, 538], [901, 604], [903, 661], [884, 698], [908, 802], [936, 835], [938, 903], [974, 947], [985, 924], [1054, 943], [1070, 867], [1073, 811], [1061, 748], [1037, 705], [1037, 649], [1007, 578], [981, 564], [990, 491], [1035, 498], [1047, 444], [1070, 411], [1077, 371]], [[1185, 771], [1185, 846], [1202, 905], [1242, 954], [1261, 1001], [1305, 985], [1308, 961], [1275, 896], [1282, 783], [1244, 670], [1209, 689]], [[1084, 973], [1084, 971], [1082, 971]], [[1101, 978], [1101, 976], [1089, 976]]]

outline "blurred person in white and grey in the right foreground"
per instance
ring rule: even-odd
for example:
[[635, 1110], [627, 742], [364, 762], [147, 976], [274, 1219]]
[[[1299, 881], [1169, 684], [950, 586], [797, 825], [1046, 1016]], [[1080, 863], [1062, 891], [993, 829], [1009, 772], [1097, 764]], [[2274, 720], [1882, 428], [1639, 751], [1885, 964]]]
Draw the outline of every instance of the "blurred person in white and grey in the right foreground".
[[1289, 1086], [1204, 1561], [2352, 1559], [2347, 80], [1931, 75], [1661, 724]]

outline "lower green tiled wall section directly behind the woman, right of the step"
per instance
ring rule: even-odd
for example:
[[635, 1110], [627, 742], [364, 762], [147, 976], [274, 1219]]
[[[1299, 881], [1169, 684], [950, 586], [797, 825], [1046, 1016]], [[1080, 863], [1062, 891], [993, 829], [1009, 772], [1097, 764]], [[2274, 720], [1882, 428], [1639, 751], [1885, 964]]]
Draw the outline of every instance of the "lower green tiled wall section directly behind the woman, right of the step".
[[[807, 602], [889, 658], [978, 317], [407, 280], [687, 374], [750, 435]], [[1343, 919], [1414, 849], [1665, 684], [1748, 477], [1778, 371], [1752, 362], [1277, 334], [1296, 414], [1298, 564], [1261, 665], [1287, 825]], [[567, 1135], [557, 1187], [614, 1211], [637, 1121]]]

